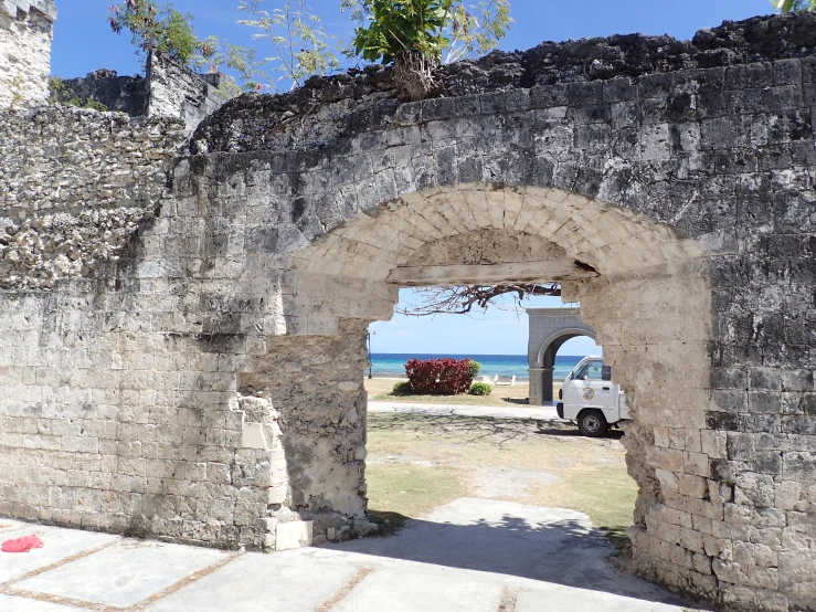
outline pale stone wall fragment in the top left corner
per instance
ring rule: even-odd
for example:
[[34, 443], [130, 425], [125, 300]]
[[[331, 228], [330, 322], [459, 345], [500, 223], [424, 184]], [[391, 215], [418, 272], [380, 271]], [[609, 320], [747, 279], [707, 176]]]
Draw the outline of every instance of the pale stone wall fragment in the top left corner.
[[0, 2], [0, 109], [47, 99], [55, 19], [53, 0]]

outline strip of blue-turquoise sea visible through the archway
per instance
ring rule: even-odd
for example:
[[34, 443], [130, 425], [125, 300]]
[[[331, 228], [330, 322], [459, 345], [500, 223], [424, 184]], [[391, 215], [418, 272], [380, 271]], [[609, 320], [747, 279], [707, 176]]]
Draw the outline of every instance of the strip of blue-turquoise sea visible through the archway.
[[[530, 373], [527, 371], [526, 355], [430, 355], [430, 354], [404, 354], [404, 352], [372, 352], [371, 370], [375, 377], [405, 377], [405, 362], [409, 359], [442, 359], [452, 357], [454, 359], [474, 359], [481, 363], [479, 376], [509, 377], [516, 374], [517, 379], [528, 380]], [[555, 357], [555, 369], [553, 378], [555, 381], [563, 380], [572, 369], [577, 366], [584, 357], [576, 355], [559, 355]]]

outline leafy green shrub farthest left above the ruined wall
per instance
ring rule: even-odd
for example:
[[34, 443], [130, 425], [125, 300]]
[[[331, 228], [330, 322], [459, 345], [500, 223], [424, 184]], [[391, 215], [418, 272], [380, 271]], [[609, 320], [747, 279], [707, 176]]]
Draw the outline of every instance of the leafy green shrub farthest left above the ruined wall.
[[192, 27], [193, 17], [180, 13], [172, 4], [124, 0], [110, 7], [108, 20], [117, 34], [130, 31], [134, 46], [140, 53], [161, 51], [187, 64], [201, 48]]

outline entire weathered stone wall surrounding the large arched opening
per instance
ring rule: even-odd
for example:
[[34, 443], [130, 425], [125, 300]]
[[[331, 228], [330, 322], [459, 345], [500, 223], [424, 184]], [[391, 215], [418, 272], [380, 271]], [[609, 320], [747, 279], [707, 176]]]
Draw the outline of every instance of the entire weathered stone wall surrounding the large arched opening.
[[816, 15], [497, 52], [421, 103], [388, 75], [242, 96], [182, 148], [172, 122], [0, 112], [0, 514], [365, 534], [393, 271], [571, 262], [632, 409], [635, 571], [816, 609]]

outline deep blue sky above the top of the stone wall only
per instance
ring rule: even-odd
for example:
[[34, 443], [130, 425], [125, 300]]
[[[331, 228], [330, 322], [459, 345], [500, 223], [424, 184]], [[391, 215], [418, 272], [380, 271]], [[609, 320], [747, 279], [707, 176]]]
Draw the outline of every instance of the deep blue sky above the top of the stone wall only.
[[[476, 0], [471, 0], [476, 2]], [[688, 39], [703, 27], [724, 19], [744, 19], [772, 11], [767, 0], [511, 0], [516, 23], [501, 49], [529, 49], [544, 40], [562, 41], [643, 32]], [[54, 28], [52, 72], [56, 76], [83, 76], [106, 67], [119, 74], [139, 71], [128, 34], [115, 35], [106, 23], [114, 0], [56, 0], [60, 17]], [[265, 0], [269, 8], [285, 0]], [[218, 34], [235, 44], [250, 41], [250, 30], [237, 25], [239, 0], [174, 0], [181, 12], [195, 17], [200, 36]], [[307, 0], [321, 15], [327, 31], [349, 39], [351, 22], [339, 10], [340, 0]], [[263, 53], [263, 48], [259, 46]]]

